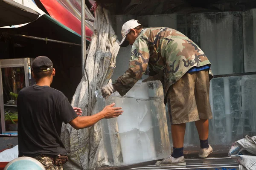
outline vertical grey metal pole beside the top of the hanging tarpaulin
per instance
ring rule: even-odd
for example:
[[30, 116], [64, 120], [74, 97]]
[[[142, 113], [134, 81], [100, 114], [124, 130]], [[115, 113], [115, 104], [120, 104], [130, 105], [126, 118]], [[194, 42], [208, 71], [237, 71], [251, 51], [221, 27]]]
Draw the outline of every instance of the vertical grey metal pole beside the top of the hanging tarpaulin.
[[82, 77], [84, 76], [84, 65], [85, 65], [85, 55], [86, 55], [86, 37], [85, 37], [85, 0], [81, 0], [81, 32], [82, 32]]

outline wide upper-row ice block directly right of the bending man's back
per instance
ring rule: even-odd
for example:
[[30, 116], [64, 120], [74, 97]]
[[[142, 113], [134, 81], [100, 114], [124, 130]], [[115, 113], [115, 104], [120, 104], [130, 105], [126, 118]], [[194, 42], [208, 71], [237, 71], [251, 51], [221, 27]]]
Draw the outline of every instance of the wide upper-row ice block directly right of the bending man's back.
[[244, 72], [240, 11], [191, 14], [190, 34], [212, 63], [214, 75]]

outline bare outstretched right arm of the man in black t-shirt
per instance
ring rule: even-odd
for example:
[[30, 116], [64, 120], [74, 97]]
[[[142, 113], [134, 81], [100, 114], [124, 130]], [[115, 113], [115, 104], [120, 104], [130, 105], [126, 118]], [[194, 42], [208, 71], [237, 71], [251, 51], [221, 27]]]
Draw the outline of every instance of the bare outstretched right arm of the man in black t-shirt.
[[123, 111], [120, 109], [122, 108], [113, 108], [115, 104], [111, 104], [106, 106], [101, 112], [92, 115], [92, 116], [78, 116], [72, 121], [69, 122], [69, 124], [74, 127], [76, 130], [83, 129], [86, 127], [90, 127], [94, 125], [95, 123], [99, 122], [101, 119], [110, 119], [114, 117], [118, 117], [122, 114]]

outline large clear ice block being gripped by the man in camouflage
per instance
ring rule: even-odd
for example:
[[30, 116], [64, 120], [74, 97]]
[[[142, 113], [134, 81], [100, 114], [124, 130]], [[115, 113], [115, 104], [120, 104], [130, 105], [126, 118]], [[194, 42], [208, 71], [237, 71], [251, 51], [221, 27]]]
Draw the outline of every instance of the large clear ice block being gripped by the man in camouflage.
[[110, 165], [163, 159], [171, 153], [160, 81], [138, 82], [123, 97], [115, 92], [105, 100], [100, 91], [96, 96], [99, 110], [114, 102], [124, 111], [100, 122]]

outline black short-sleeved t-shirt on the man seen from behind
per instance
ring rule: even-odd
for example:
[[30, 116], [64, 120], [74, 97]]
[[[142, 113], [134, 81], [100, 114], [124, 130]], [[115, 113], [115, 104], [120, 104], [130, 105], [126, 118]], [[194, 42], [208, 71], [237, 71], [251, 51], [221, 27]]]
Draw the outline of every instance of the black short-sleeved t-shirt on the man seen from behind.
[[67, 155], [61, 142], [62, 122], [77, 117], [67, 97], [49, 86], [23, 88], [17, 98], [19, 157]]

